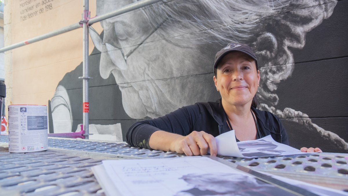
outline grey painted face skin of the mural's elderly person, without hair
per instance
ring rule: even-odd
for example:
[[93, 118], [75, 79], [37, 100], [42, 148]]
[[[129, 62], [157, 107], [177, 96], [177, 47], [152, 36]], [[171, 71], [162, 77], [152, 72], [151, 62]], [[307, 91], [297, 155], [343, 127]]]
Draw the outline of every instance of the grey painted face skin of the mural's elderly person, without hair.
[[[120, 7], [113, 1], [98, 3], [102, 5], [97, 8], [98, 14]], [[103, 78], [114, 75], [126, 113], [135, 119], [154, 118], [197, 100], [216, 100], [217, 93], [209, 93], [214, 88], [212, 51], [200, 48], [198, 43], [183, 44], [189, 40], [185, 36], [165, 35], [169, 19], [163, 14], [154, 22], [151, 18], [154, 16], [147, 11], [137, 10], [101, 23], [100, 74]], [[192, 88], [194, 85], [196, 88]]]

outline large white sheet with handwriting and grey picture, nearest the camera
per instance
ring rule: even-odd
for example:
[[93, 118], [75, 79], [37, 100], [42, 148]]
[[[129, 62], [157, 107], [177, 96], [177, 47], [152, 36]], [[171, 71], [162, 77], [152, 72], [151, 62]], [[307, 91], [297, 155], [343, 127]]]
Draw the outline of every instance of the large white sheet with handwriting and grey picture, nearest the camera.
[[207, 157], [103, 160], [103, 166], [118, 193], [127, 196], [291, 195]]

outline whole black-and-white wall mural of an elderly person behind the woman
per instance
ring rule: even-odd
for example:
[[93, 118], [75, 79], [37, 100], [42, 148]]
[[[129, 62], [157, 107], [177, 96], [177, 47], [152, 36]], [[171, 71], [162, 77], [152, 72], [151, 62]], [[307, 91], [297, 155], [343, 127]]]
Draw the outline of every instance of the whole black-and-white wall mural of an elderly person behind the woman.
[[[97, 15], [133, 2], [97, 0]], [[348, 0], [164, 0], [102, 21], [101, 35], [90, 28], [90, 123], [124, 139], [136, 120], [216, 101], [215, 53], [238, 42], [254, 49], [261, 110], [282, 119], [290, 145], [347, 153], [347, 8]], [[82, 123], [81, 75], [82, 65], [67, 73], [50, 100], [55, 133]]]

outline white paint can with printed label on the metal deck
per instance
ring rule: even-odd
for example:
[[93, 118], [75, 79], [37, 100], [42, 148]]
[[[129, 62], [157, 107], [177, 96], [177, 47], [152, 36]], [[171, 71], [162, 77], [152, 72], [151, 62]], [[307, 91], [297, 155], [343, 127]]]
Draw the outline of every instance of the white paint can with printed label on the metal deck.
[[9, 152], [47, 150], [47, 106], [9, 105], [8, 131]]

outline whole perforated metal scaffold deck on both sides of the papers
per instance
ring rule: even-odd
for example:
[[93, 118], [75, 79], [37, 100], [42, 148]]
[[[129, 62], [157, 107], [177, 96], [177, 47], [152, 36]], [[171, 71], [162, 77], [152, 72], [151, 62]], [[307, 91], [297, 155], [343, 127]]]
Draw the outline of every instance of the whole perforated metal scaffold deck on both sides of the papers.
[[[103, 195], [90, 167], [103, 159], [173, 158], [184, 155], [130, 147], [125, 142], [49, 138], [49, 150], [9, 153], [0, 137], [0, 195]], [[221, 157], [238, 165], [288, 178], [348, 191], [348, 154], [275, 156], [256, 159]], [[13, 194], [11, 194], [13, 195]]]

